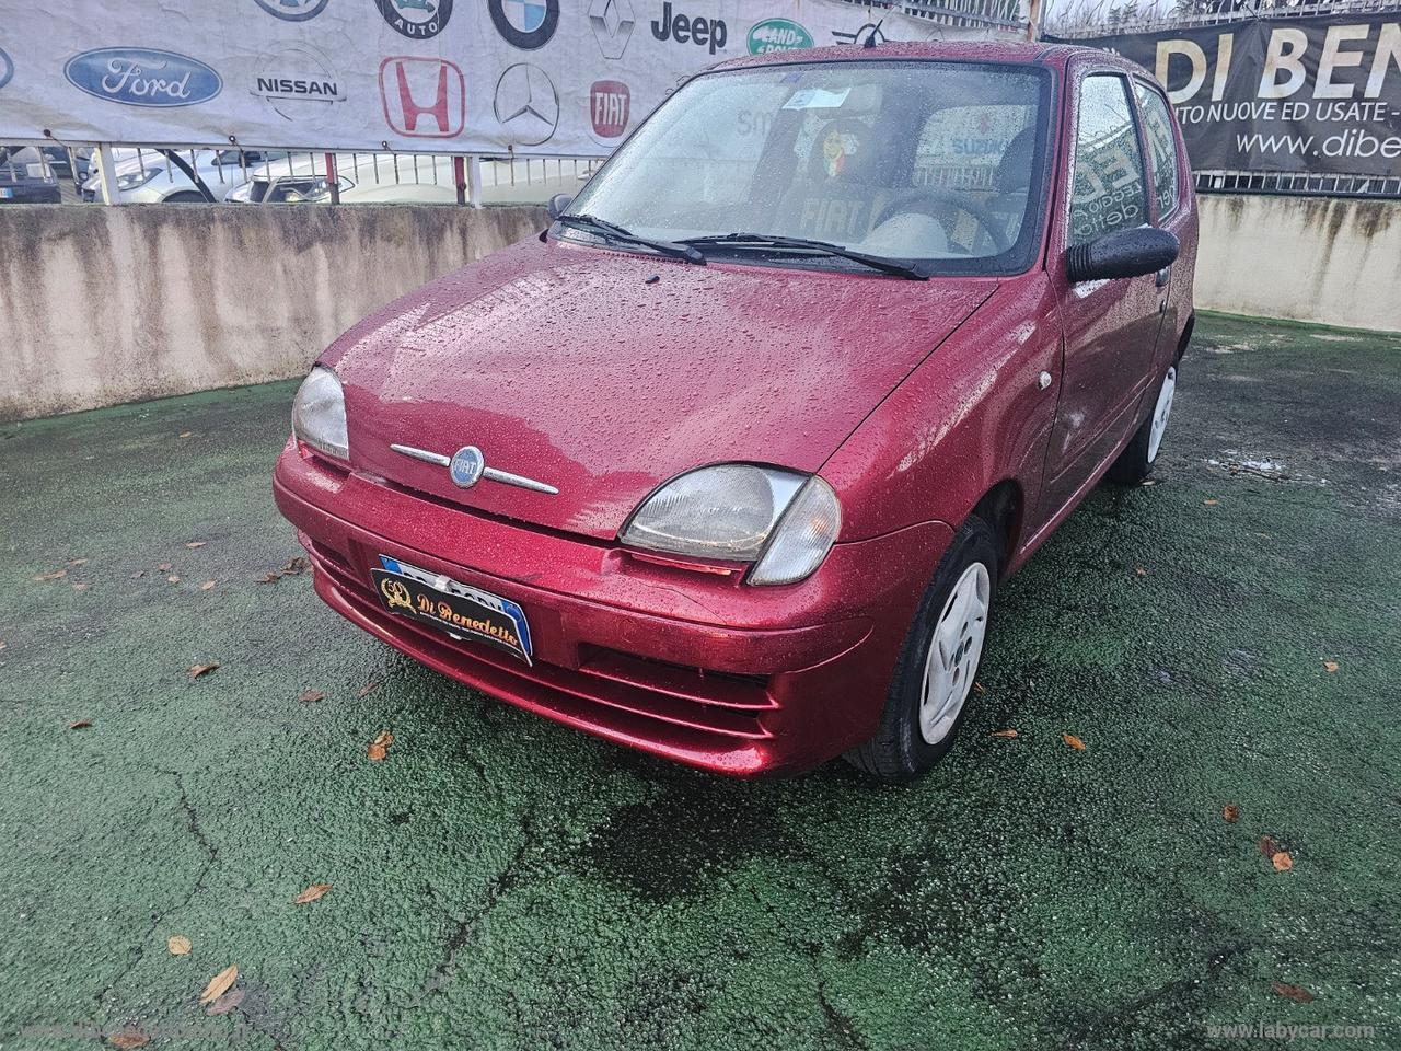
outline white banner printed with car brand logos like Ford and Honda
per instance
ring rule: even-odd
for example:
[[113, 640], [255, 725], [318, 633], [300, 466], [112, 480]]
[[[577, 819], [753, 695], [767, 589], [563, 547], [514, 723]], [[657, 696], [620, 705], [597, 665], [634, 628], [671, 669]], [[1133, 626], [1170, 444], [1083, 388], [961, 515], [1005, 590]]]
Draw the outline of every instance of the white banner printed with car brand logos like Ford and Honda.
[[0, 0], [0, 142], [600, 156], [724, 59], [968, 35], [835, 0]]

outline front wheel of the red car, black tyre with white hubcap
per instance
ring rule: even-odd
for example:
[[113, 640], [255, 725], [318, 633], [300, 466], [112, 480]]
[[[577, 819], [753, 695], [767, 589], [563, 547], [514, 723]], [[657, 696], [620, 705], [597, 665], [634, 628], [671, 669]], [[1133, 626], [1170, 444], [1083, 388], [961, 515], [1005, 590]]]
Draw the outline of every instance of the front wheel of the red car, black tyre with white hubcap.
[[[895, 661], [895, 675], [880, 724], [869, 741], [846, 753], [848, 762], [881, 781], [913, 781], [953, 747], [968, 712], [968, 695], [986, 646], [1000, 563], [1000, 545], [992, 527], [979, 517], [968, 518], [954, 534], [919, 603], [915, 622], [909, 626]], [[958, 603], [954, 598], [961, 597], [968, 587], [972, 589], [971, 604], [962, 610], [967, 614], [965, 622], [958, 625]], [[948, 621], [948, 617], [955, 619]], [[960, 654], [946, 660], [944, 668], [937, 664], [940, 652], [933, 654], [936, 664], [929, 664], [936, 629], [941, 624], [947, 624], [948, 640], [958, 642], [940, 652]], [[950, 664], [954, 668], [951, 675], [947, 671]], [[927, 705], [923, 703], [926, 675], [933, 675], [934, 685]], [[940, 698], [944, 692], [939, 689], [940, 685], [953, 689], [947, 701]]]

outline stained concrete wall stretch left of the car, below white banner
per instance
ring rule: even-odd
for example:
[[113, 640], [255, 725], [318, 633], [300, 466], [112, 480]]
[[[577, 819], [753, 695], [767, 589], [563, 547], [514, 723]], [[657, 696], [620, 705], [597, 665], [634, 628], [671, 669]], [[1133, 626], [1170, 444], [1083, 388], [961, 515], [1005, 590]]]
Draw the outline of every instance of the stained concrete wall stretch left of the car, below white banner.
[[301, 376], [538, 207], [0, 207], [0, 419]]

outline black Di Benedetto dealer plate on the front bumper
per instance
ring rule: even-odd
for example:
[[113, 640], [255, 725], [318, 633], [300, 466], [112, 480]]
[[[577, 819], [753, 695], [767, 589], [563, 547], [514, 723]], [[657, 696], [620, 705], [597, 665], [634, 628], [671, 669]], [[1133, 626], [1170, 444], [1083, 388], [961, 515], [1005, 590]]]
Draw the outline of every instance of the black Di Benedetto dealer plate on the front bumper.
[[371, 569], [374, 591], [385, 610], [430, 624], [454, 639], [474, 639], [531, 663], [525, 611], [510, 598], [469, 587], [441, 573], [380, 555]]

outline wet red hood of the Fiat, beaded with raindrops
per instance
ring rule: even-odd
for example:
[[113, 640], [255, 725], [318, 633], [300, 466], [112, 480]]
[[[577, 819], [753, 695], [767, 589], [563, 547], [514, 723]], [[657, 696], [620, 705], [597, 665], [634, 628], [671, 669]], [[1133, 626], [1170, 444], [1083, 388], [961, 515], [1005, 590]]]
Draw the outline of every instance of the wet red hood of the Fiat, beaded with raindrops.
[[[345, 385], [356, 471], [607, 540], [695, 467], [817, 471], [995, 287], [531, 238], [385, 307], [322, 360]], [[391, 444], [476, 446], [559, 492], [461, 489]]]

